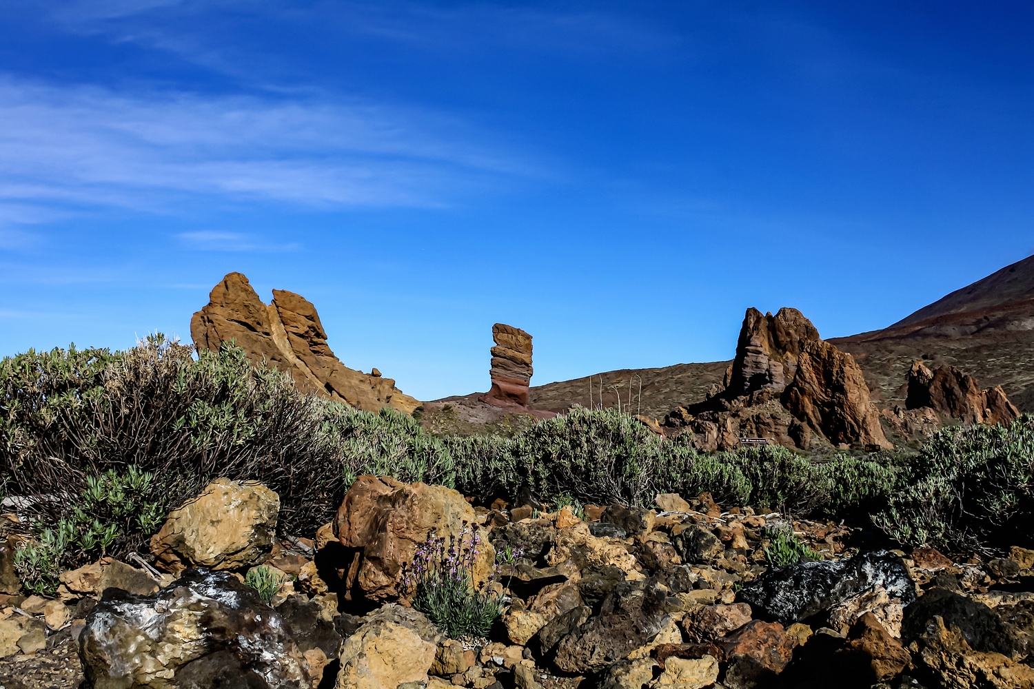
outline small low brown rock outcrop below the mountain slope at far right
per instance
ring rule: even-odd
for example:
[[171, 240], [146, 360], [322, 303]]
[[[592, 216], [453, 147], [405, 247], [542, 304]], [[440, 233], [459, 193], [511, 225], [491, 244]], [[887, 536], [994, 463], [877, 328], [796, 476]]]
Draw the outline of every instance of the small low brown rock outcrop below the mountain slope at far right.
[[908, 409], [932, 408], [941, 414], [968, 424], [994, 426], [1020, 417], [1020, 411], [1001, 385], [980, 389], [973, 376], [953, 366], [939, 366], [933, 371], [922, 362], [912, 362], [908, 372]]

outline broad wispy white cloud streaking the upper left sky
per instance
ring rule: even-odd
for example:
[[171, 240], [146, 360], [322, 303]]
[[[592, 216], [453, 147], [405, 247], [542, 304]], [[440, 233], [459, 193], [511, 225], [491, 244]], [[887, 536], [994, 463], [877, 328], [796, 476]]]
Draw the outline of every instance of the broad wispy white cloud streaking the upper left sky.
[[[433, 207], [542, 170], [487, 134], [369, 102], [124, 95], [0, 79], [0, 202], [162, 211], [184, 195]], [[2, 210], [2, 209], [0, 209]]]

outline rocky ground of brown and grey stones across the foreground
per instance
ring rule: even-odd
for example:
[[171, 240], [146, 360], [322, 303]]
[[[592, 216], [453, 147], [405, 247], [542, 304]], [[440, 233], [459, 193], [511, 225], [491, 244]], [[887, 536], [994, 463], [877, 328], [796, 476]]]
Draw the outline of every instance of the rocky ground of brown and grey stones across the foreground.
[[[364, 476], [334, 522], [277, 537], [276, 495], [220, 479], [169, 516], [150, 564], [2, 596], [0, 686], [1034, 687], [1032, 551], [873, 550], [830, 521], [656, 502], [472, 505]], [[432, 534], [475, 543], [472, 576], [505, 603], [487, 636], [408, 606]], [[269, 604], [243, 583], [258, 563], [281, 580]]]

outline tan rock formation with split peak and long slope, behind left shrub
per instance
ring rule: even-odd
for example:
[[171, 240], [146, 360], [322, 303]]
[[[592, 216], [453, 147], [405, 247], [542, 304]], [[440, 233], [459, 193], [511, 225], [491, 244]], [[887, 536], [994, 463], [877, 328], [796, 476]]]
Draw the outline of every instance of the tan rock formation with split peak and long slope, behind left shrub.
[[240, 273], [231, 273], [212, 288], [209, 303], [190, 319], [199, 349], [218, 351], [236, 340], [252, 362], [288, 371], [298, 387], [365, 411], [394, 407], [413, 413], [416, 399], [395, 387], [379, 371], [367, 375], [345, 367], [327, 344], [327, 333], [311, 302], [282, 289], [266, 305]]

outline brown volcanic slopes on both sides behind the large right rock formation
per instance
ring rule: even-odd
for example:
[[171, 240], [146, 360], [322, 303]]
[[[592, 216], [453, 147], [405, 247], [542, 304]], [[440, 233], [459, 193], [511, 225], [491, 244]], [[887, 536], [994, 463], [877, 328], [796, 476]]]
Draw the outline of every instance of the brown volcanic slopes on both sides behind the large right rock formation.
[[[873, 401], [881, 408], [905, 406], [906, 373], [914, 359], [930, 367], [950, 364], [976, 376], [981, 386], [1002, 385], [1021, 411], [1034, 412], [1034, 256], [955, 290], [882, 331], [829, 340], [854, 355]], [[731, 353], [731, 352], [730, 352]], [[560, 411], [572, 404], [629, 402], [633, 413], [660, 417], [699, 402], [713, 383], [722, 385], [729, 362], [624, 369], [530, 388], [528, 406]]]

